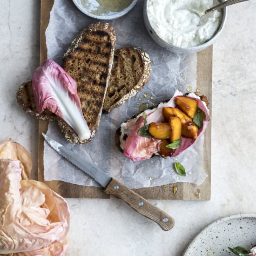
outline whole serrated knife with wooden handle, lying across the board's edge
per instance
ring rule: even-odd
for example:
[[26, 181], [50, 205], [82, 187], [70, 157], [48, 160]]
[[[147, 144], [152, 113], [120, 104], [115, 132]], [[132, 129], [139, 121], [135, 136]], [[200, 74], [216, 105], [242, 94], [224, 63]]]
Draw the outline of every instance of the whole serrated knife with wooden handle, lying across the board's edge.
[[155, 207], [142, 196], [127, 188], [121, 182], [110, 177], [107, 173], [99, 169], [93, 163], [85, 161], [80, 155], [75, 154], [59, 142], [42, 133], [47, 143], [61, 156], [73, 163], [76, 167], [91, 176], [98, 182], [107, 194], [115, 195], [126, 202], [132, 209], [156, 222], [163, 230], [170, 230], [174, 226], [174, 219], [168, 216], [161, 209]]

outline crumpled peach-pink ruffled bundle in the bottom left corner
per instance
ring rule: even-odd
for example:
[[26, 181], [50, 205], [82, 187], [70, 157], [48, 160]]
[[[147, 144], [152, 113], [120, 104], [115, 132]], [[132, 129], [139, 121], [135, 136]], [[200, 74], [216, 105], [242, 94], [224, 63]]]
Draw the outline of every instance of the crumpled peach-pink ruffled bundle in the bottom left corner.
[[31, 160], [15, 160], [17, 148], [27, 151], [11, 143], [0, 144], [0, 148], [3, 144], [6, 147], [5, 154], [0, 150], [0, 254], [64, 256], [69, 229], [67, 202], [42, 182], [22, 180], [23, 167]]

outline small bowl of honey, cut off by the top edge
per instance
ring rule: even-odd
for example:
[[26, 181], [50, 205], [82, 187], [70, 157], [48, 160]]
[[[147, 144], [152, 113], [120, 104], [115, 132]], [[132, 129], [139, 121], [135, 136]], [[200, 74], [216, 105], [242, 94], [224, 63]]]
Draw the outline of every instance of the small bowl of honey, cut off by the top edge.
[[97, 20], [115, 20], [128, 13], [137, 0], [73, 0], [82, 12]]

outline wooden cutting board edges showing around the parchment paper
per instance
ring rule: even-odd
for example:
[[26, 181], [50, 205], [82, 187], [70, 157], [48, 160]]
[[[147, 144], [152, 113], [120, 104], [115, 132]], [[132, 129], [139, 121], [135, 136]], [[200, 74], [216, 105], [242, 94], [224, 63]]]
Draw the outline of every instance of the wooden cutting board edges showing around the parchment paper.
[[[50, 11], [54, 0], [41, 0], [41, 27], [40, 27], [40, 64], [47, 59], [45, 31], [49, 23]], [[212, 102], [212, 46], [197, 54], [197, 88], [209, 99], [211, 112]], [[74, 185], [61, 181], [44, 181], [43, 151], [44, 139], [42, 132], [46, 133], [48, 122], [39, 121], [39, 169], [38, 179], [46, 183], [55, 192], [67, 198], [112, 198], [103, 192], [103, 189], [93, 186]], [[211, 191], [211, 122], [205, 133], [204, 139], [204, 166], [208, 178], [201, 186], [192, 183], [178, 182], [152, 188], [134, 189], [136, 193], [146, 199], [171, 199], [171, 200], [210, 200]], [[176, 195], [173, 188], [177, 188]]]

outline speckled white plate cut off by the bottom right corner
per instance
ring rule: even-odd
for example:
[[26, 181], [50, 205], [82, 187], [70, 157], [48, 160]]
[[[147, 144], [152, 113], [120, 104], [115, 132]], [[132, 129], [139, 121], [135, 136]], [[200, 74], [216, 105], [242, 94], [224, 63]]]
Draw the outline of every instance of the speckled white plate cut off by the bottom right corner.
[[256, 245], [256, 214], [232, 215], [213, 222], [189, 244], [183, 256], [233, 255], [228, 247]]

